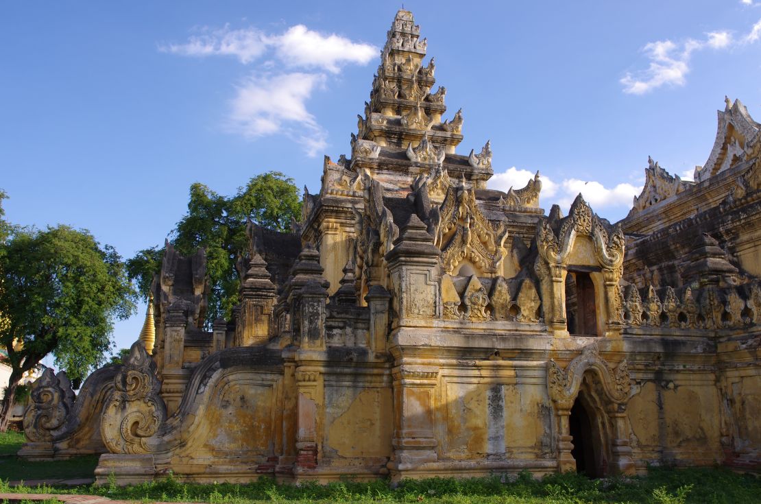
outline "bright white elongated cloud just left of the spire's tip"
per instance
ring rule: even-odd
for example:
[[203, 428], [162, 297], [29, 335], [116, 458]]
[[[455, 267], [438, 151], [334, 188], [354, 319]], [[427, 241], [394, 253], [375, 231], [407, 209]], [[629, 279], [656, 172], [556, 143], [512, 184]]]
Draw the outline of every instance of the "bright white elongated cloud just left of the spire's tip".
[[290, 27], [275, 37], [275, 52], [289, 66], [319, 67], [338, 73], [341, 65], [366, 65], [378, 56], [379, 49], [365, 43], [354, 43], [335, 33], [325, 36], [303, 24]]

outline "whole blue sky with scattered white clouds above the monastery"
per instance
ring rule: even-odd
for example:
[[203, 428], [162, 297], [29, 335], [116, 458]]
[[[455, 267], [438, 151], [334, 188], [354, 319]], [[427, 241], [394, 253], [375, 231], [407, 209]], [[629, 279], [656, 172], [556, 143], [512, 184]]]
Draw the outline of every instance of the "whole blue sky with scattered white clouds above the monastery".
[[[316, 192], [349, 152], [401, 3], [3, 2], [0, 187], [8, 219], [90, 230], [124, 257], [161, 244], [199, 181], [279, 170]], [[410, 2], [467, 154], [492, 187], [539, 170], [621, 219], [648, 155], [703, 164], [724, 95], [761, 117], [761, 3]], [[142, 312], [116, 325], [117, 346]]]

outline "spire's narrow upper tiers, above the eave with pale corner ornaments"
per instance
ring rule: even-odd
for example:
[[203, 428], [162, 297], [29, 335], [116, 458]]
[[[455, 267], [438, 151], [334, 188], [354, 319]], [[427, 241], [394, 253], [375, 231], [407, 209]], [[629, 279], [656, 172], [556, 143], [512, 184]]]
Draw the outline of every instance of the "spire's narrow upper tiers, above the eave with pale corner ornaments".
[[423, 66], [427, 40], [420, 39], [420, 27], [410, 11], [398, 11], [388, 31], [380, 66], [373, 81], [365, 117], [359, 117], [358, 139], [378, 145], [407, 148], [416, 146], [427, 133], [443, 152], [454, 153], [462, 141], [462, 111], [441, 122], [447, 111], [447, 90], [435, 84], [435, 62]]

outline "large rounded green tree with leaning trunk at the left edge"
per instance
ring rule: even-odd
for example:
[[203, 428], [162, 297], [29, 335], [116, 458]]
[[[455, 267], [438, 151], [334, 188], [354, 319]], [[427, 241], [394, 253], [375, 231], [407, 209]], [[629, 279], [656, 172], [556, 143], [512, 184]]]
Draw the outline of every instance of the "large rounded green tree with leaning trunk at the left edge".
[[116, 250], [67, 226], [14, 229], [0, 254], [0, 346], [11, 377], [0, 409], [0, 431], [18, 381], [52, 353], [75, 383], [103, 362], [115, 318], [135, 311], [136, 292]]

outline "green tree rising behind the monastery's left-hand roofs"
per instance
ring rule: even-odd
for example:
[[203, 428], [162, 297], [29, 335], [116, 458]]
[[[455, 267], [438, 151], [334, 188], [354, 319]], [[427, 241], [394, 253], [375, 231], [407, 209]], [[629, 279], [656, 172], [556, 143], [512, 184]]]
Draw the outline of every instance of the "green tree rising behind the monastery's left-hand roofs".
[[[235, 270], [239, 254], [248, 247], [246, 222], [250, 219], [266, 228], [290, 231], [291, 222], [301, 218], [301, 199], [294, 180], [279, 171], [253, 177], [234, 196], [221, 196], [202, 183], [190, 186], [188, 212], [177, 222], [170, 241], [183, 255], [206, 249], [206, 271], [211, 289], [205, 324], [217, 317], [229, 318], [238, 303], [240, 280]], [[161, 270], [164, 249], [139, 250], [127, 261], [129, 276], [143, 295], [154, 273]]]

